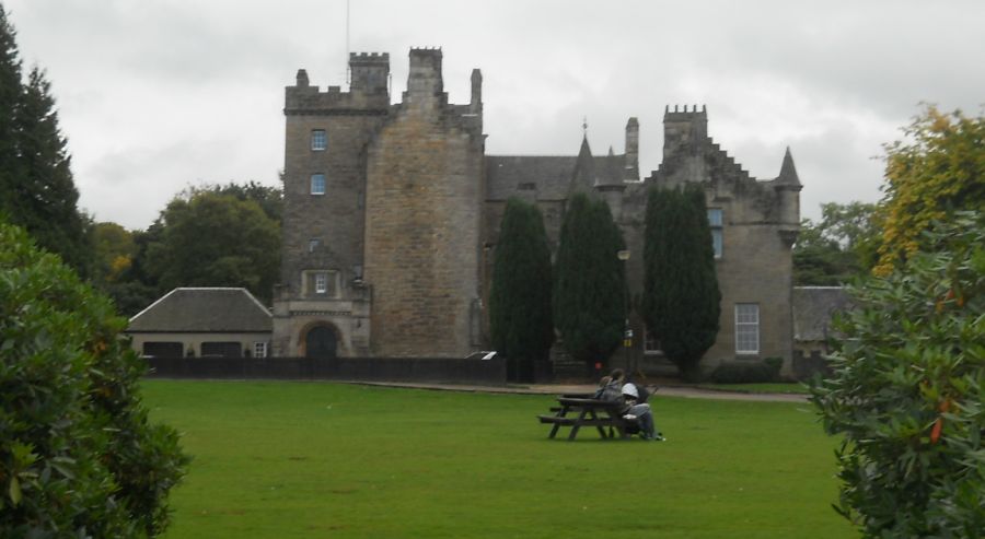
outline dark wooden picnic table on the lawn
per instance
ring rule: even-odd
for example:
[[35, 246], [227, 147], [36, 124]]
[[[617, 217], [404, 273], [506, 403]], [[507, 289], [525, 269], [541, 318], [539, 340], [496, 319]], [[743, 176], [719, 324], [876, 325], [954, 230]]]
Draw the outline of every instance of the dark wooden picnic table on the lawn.
[[554, 438], [561, 426], [570, 426], [568, 440], [575, 440], [582, 426], [594, 426], [603, 438], [629, 437], [627, 429], [636, 426], [635, 420], [627, 420], [619, 414], [623, 405], [611, 400], [599, 400], [584, 395], [558, 396], [559, 407], [552, 408], [554, 415], [537, 415], [541, 423], [552, 424], [548, 438]]

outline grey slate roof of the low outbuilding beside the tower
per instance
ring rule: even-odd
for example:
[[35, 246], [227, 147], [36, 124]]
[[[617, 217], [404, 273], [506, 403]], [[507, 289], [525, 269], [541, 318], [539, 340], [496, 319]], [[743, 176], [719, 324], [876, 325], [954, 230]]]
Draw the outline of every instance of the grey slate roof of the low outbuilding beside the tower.
[[128, 332], [269, 332], [270, 312], [246, 289], [174, 289], [130, 318]]

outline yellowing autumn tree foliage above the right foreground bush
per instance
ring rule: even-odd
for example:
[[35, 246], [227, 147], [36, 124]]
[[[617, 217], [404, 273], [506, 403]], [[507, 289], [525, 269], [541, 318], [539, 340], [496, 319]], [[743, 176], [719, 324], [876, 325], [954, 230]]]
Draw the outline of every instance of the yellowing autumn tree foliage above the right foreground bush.
[[985, 117], [927, 106], [904, 133], [908, 141], [885, 145], [879, 274], [919, 250], [932, 221], [985, 208]]

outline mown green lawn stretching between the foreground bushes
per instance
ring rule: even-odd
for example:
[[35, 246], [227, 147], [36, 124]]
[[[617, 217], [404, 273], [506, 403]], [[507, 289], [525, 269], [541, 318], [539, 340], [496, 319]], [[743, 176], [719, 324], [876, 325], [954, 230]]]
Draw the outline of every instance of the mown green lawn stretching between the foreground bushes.
[[148, 380], [195, 457], [166, 538], [842, 538], [807, 405], [657, 397], [669, 442], [547, 440], [549, 396]]

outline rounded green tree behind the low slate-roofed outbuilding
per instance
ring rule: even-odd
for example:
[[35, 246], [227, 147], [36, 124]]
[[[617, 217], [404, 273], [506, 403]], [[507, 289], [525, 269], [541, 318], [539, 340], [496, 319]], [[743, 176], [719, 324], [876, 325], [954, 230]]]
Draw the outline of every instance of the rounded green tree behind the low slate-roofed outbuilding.
[[160, 290], [243, 286], [270, 302], [280, 269], [280, 226], [253, 200], [201, 191], [176, 198], [155, 223], [141, 271]]

